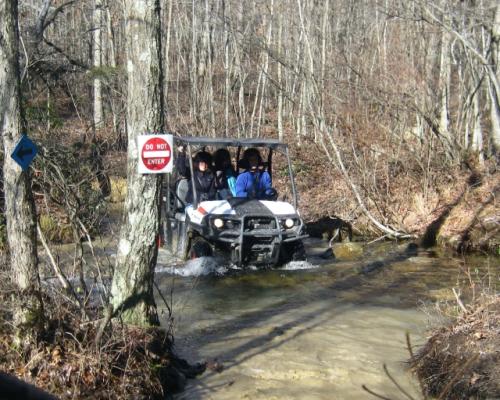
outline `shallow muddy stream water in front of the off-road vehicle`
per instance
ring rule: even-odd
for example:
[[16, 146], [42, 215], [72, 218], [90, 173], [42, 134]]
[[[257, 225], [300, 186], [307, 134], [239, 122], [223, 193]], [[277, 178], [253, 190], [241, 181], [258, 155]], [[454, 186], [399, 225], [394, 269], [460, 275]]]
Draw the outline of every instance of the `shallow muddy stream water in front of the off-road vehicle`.
[[374, 398], [363, 385], [404, 398], [384, 365], [418, 398], [406, 332], [415, 346], [423, 343], [436, 322], [433, 304], [469, 279], [464, 263], [472, 279], [489, 268], [498, 283], [498, 266], [487, 259], [374, 244], [357, 260], [325, 261], [314, 256], [322, 245], [308, 243], [308, 263], [272, 271], [231, 270], [212, 259], [172, 267], [160, 257], [178, 353], [224, 366], [189, 381], [177, 399]]

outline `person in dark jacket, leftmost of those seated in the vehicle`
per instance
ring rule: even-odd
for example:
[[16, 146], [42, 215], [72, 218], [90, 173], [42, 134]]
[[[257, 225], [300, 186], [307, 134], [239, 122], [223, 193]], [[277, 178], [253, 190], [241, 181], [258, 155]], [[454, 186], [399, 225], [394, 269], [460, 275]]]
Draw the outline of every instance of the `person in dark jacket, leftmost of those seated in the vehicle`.
[[[196, 154], [193, 160], [193, 181], [196, 187], [196, 193], [198, 196], [198, 201], [214, 200], [216, 189], [215, 189], [215, 175], [210, 170], [210, 165], [212, 165], [212, 156], [206, 151], [200, 151]], [[193, 184], [189, 183], [189, 190], [186, 195], [186, 202], [192, 203], [194, 201], [193, 196]]]

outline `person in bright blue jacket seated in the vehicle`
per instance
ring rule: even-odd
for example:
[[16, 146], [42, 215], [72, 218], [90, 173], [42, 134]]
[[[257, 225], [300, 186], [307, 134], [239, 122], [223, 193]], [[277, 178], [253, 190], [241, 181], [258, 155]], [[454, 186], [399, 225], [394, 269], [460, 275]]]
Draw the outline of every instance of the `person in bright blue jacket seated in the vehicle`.
[[271, 187], [271, 176], [262, 168], [262, 157], [255, 148], [243, 153], [242, 166], [245, 172], [236, 179], [236, 197], [249, 199], [273, 199], [276, 191]]

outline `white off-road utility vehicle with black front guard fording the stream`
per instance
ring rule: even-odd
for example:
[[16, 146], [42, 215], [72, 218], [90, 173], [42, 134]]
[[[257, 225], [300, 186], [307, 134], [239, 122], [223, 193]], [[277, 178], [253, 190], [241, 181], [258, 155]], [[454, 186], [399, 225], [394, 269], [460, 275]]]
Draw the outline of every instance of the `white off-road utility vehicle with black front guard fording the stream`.
[[[267, 151], [267, 162], [263, 164], [271, 177], [273, 153], [281, 153], [287, 163], [293, 205], [275, 199], [200, 199], [192, 180], [174, 179], [174, 171], [167, 176], [162, 203], [163, 241], [169, 252], [181, 259], [217, 254], [237, 266], [276, 266], [305, 259], [302, 239], [307, 235], [297, 211], [297, 192], [286, 144], [271, 139], [175, 137], [174, 140], [176, 146], [183, 145], [187, 150], [191, 177], [193, 155], [207, 148], [230, 149], [236, 160], [240, 159], [242, 149], [263, 149]], [[186, 203], [189, 185], [192, 204]]]

